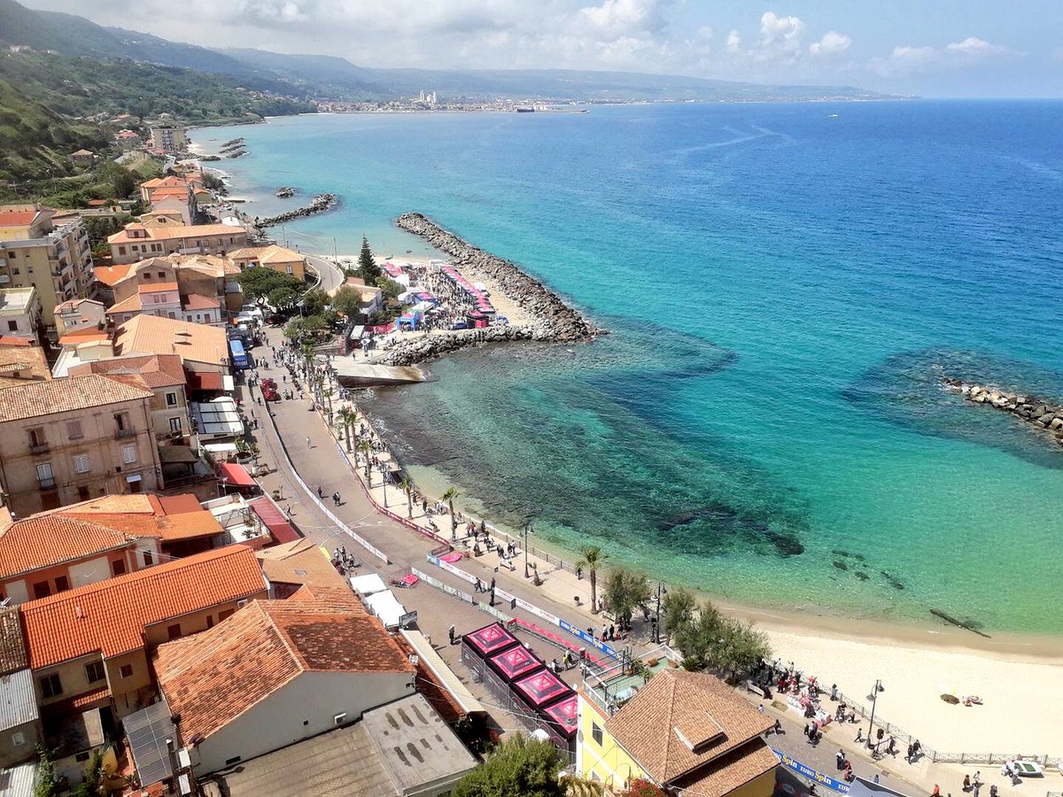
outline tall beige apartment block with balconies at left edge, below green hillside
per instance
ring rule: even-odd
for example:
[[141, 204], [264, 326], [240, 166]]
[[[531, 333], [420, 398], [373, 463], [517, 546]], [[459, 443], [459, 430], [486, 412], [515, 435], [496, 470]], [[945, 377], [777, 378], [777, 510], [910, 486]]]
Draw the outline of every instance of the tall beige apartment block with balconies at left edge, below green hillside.
[[49, 326], [55, 305], [85, 295], [92, 281], [84, 223], [55, 226], [52, 211], [38, 205], [0, 206], [0, 288], [35, 287]]

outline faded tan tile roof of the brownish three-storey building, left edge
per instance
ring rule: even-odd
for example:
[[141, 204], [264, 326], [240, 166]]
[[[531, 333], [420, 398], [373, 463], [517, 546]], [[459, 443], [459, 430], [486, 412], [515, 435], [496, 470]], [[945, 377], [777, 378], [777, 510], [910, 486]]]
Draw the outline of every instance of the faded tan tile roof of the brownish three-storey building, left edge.
[[[222, 333], [224, 336], [224, 333]], [[68, 376], [0, 390], [0, 423], [46, 418], [91, 407], [150, 398], [152, 392], [105, 376]]]

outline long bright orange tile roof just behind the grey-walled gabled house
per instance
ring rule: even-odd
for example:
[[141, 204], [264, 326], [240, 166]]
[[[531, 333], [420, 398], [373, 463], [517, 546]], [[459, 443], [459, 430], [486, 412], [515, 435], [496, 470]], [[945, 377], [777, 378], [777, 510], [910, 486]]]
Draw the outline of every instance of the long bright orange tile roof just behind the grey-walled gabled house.
[[147, 626], [265, 591], [251, 548], [230, 545], [31, 600], [19, 607], [30, 666], [137, 650]]

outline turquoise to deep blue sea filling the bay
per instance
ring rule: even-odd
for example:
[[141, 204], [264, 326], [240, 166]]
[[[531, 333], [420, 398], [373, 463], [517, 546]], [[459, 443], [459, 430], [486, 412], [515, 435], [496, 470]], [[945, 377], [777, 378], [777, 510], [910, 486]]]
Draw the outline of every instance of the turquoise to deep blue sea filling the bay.
[[1063, 450], [937, 379], [1063, 397], [1061, 129], [1061, 103], [910, 102], [195, 138], [247, 138], [219, 166], [252, 214], [341, 194], [291, 243], [420, 253], [390, 226], [419, 210], [613, 330], [370, 400], [404, 461], [503, 522], [733, 600], [1059, 633]]

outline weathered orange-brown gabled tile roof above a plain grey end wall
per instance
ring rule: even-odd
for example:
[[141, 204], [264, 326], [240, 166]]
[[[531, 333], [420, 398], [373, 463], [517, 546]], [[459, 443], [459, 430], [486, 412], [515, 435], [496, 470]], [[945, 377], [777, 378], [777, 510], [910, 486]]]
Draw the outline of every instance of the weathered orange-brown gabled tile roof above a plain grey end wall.
[[161, 645], [154, 665], [185, 739], [209, 737], [303, 673], [414, 672], [378, 620], [313, 600], [255, 600], [209, 630]]

